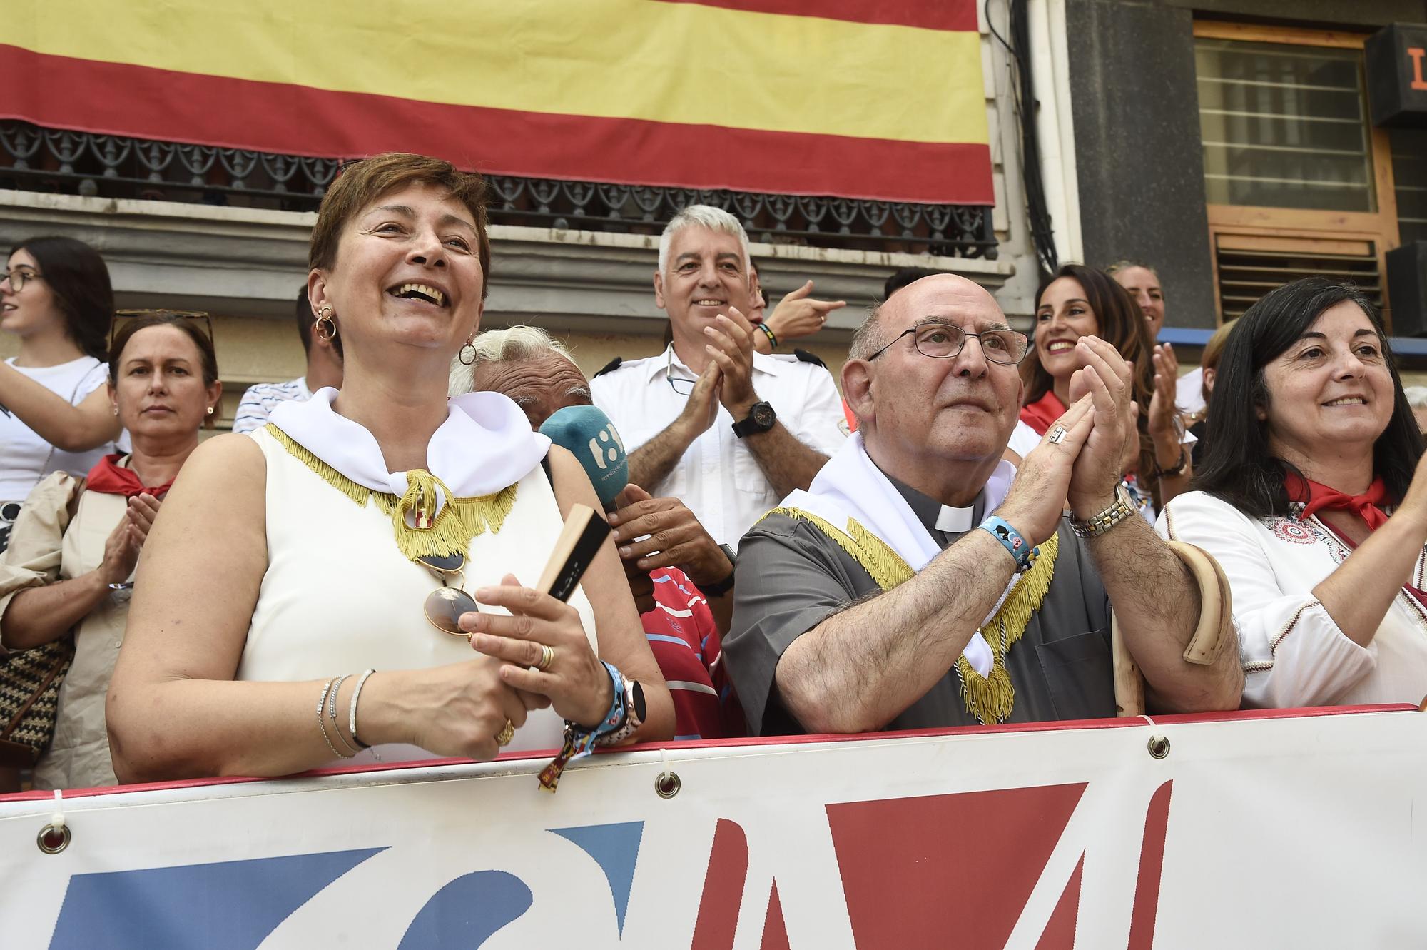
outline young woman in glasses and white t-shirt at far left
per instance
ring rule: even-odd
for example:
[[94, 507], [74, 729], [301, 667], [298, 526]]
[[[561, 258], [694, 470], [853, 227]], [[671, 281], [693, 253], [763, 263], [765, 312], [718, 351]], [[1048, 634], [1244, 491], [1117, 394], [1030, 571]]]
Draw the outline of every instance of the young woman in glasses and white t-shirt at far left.
[[0, 274], [0, 551], [20, 501], [50, 472], [83, 475], [120, 438], [103, 391], [114, 320], [104, 258], [73, 238], [26, 241]]

